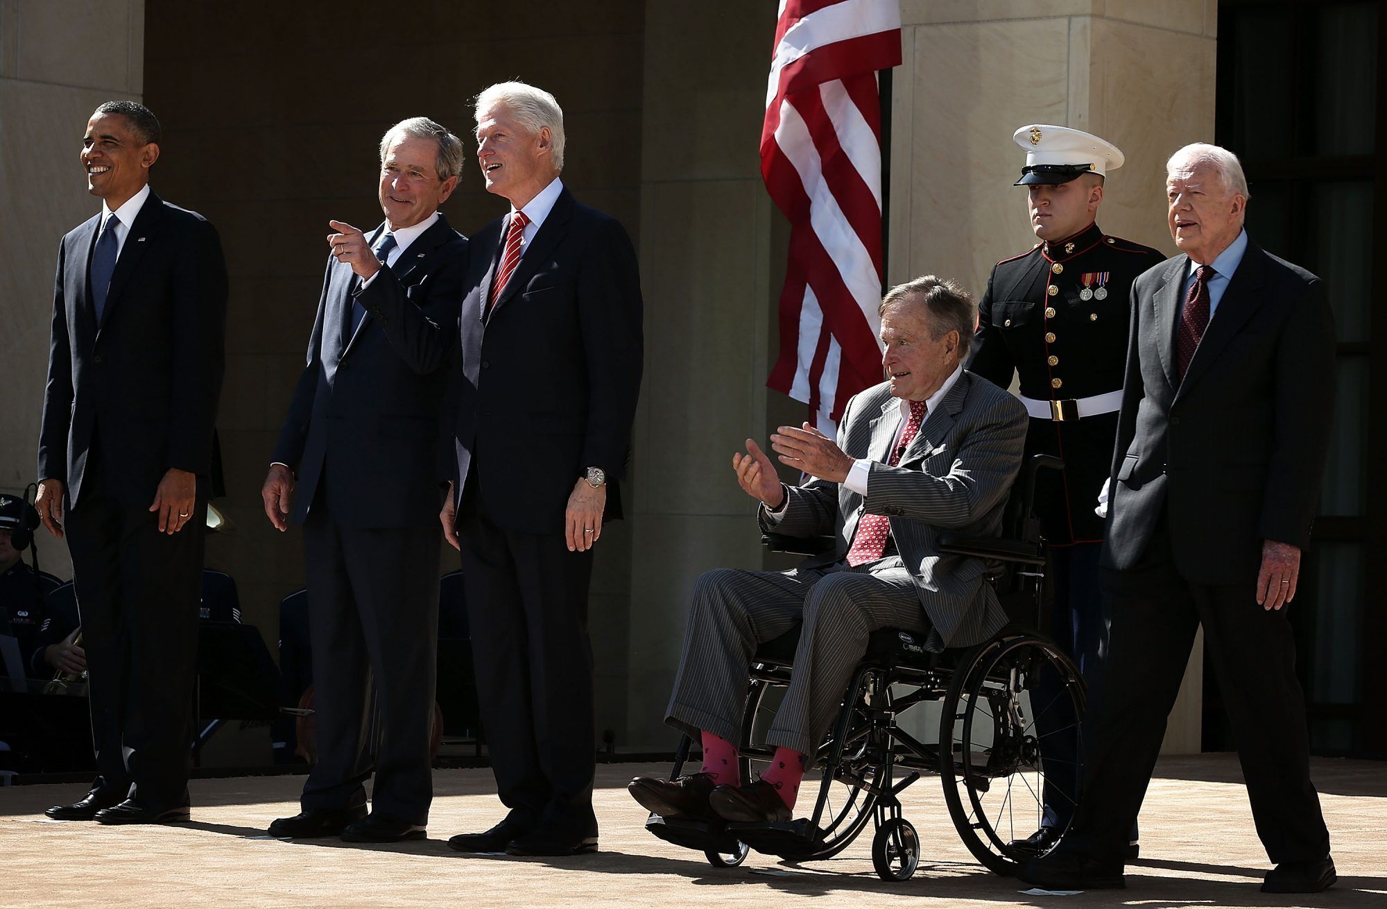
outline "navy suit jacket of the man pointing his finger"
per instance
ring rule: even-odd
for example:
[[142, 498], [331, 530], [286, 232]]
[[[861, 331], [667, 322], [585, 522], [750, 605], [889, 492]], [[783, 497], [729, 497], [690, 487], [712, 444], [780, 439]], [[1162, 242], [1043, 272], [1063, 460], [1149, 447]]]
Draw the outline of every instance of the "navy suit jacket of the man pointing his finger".
[[[456, 325], [466, 251], [466, 237], [440, 214], [366, 290], [390, 287], [427, 322]], [[304, 522], [323, 484], [320, 501], [343, 526], [436, 526], [448, 362], [416, 369], [369, 308], [348, 337], [354, 290], [365, 297], [351, 266], [329, 257], [308, 362], [272, 458], [298, 475], [290, 520]]]

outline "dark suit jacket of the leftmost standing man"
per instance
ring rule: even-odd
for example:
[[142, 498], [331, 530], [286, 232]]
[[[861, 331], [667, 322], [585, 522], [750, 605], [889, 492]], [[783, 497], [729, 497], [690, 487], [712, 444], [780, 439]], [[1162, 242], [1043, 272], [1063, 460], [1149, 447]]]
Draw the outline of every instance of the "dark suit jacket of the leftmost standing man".
[[205, 218], [151, 192], [98, 325], [87, 283], [100, 226], [98, 214], [58, 246], [39, 479], [61, 480], [76, 508], [96, 470], [104, 494], [148, 507], [178, 468], [197, 475], [205, 500], [226, 334], [221, 239]]

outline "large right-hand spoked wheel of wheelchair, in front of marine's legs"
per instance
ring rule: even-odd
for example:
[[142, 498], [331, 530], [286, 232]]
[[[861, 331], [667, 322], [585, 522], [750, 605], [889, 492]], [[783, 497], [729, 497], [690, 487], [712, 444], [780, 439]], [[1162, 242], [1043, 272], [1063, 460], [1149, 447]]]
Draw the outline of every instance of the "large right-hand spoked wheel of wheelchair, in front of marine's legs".
[[[1082, 752], [1083, 706], [1074, 661], [1033, 634], [982, 644], [954, 674], [939, 724], [939, 774], [958, 835], [992, 872], [1011, 876], [1031, 858], [1010, 842], [1040, 827], [1046, 765], [1058, 772], [1072, 763], [1051, 737], [1078, 737]], [[1053, 787], [1057, 801], [1078, 795]]]

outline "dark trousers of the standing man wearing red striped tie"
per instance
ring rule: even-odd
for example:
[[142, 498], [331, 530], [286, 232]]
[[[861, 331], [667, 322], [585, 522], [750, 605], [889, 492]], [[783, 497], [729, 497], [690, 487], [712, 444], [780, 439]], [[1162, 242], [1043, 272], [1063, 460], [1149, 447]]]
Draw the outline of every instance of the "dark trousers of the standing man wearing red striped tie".
[[483, 513], [474, 482], [463, 489], [463, 590], [498, 794], [533, 823], [596, 835], [592, 550], [569, 552], [562, 533], [503, 530]]

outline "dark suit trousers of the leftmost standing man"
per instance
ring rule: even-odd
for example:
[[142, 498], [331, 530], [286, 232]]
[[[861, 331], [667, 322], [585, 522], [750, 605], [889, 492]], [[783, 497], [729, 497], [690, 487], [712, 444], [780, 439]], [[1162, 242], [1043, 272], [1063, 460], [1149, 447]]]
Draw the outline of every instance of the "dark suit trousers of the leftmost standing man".
[[207, 502], [169, 536], [148, 505], [107, 497], [96, 477], [89, 459], [65, 523], [90, 677], [93, 788], [172, 808], [187, 801], [193, 766]]

